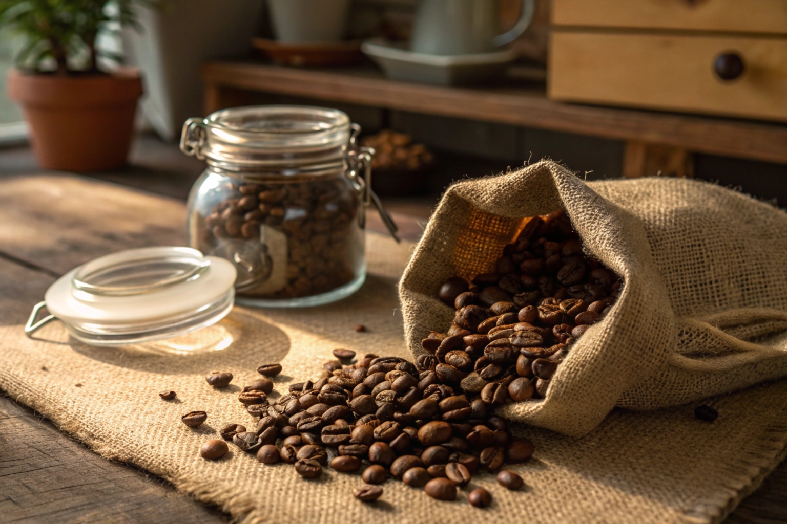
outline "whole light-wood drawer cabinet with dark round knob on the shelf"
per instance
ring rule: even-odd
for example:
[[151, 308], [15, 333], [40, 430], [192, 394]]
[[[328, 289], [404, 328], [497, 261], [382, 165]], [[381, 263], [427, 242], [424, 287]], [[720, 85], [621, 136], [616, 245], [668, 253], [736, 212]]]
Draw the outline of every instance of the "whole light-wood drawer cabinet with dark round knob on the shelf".
[[552, 0], [547, 86], [556, 100], [787, 121], [787, 0]]

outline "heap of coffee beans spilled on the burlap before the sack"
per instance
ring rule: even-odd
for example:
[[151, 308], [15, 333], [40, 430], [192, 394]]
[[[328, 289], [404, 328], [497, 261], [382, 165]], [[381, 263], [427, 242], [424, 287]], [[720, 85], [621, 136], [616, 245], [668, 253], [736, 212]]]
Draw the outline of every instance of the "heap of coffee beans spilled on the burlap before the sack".
[[[492, 416], [489, 403], [468, 398], [456, 380], [444, 381], [435, 366], [400, 357], [366, 354], [356, 360], [352, 350], [334, 350], [315, 382], [290, 384], [289, 392], [269, 401], [272, 378], [279, 364], [260, 365], [262, 377], [243, 387], [238, 401], [252, 416], [253, 427], [227, 424], [219, 431], [224, 441], [255, 453], [262, 464], [294, 464], [304, 478], [320, 477], [323, 467], [353, 473], [362, 471], [364, 485], [354, 491], [363, 501], [382, 496], [380, 486], [397, 478], [423, 489], [438, 500], [455, 500], [457, 489], [467, 487], [480, 471], [497, 473], [507, 489], [519, 489], [523, 480], [504, 464], [530, 458], [533, 443], [514, 439], [504, 420]], [[212, 372], [207, 376], [224, 376]], [[213, 385], [213, 384], [212, 384]], [[190, 412], [183, 423], [197, 427], [205, 412]], [[227, 453], [223, 441], [205, 442], [200, 455], [218, 460]], [[499, 472], [499, 473], [498, 473]], [[473, 489], [473, 506], [491, 504], [492, 495]]]

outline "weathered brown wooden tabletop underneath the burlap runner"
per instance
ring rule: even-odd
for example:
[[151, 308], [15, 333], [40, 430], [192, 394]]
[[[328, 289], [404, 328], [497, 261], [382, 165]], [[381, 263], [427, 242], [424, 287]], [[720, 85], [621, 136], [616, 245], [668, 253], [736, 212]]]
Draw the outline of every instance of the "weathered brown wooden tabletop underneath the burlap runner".
[[[0, 325], [22, 329], [46, 288], [91, 258], [183, 244], [185, 216], [179, 200], [86, 178], [0, 181]], [[415, 220], [398, 218], [408, 236], [416, 235]], [[370, 222], [382, 231], [379, 221]], [[726, 522], [787, 522], [785, 493], [787, 463]], [[0, 396], [0, 515], [0, 522], [46, 524], [229, 522], [160, 478], [92, 453], [6, 396]]]

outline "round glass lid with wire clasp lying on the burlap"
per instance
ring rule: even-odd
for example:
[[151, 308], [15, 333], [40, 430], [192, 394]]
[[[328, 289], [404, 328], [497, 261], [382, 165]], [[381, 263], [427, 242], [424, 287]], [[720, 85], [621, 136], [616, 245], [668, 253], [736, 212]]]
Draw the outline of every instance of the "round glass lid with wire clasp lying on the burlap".
[[[62, 321], [84, 343], [117, 345], [181, 335], [224, 318], [235, 266], [190, 247], [143, 247], [72, 269], [46, 291], [25, 332]], [[43, 306], [50, 317], [33, 324]]]

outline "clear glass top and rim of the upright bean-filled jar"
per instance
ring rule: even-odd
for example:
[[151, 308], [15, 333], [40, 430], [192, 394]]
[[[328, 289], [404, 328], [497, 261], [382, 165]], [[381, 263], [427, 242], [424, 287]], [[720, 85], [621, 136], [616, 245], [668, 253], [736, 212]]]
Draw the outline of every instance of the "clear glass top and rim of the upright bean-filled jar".
[[258, 105], [188, 119], [180, 148], [221, 169], [302, 174], [341, 167], [352, 134], [338, 109]]

